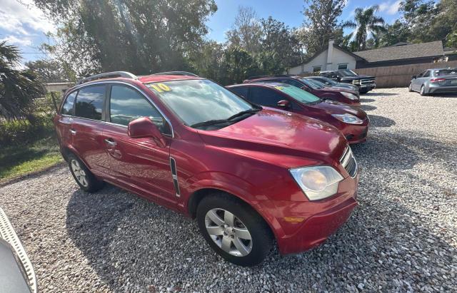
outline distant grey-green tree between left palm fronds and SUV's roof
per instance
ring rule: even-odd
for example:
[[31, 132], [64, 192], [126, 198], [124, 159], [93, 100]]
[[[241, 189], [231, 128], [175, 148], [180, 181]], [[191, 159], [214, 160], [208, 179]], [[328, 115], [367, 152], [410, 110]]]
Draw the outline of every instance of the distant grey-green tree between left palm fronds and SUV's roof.
[[74, 71], [68, 63], [52, 60], [36, 60], [25, 63], [26, 68], [36, 73], [41, 81], [52, 83], [58, 81], [76, 81]]

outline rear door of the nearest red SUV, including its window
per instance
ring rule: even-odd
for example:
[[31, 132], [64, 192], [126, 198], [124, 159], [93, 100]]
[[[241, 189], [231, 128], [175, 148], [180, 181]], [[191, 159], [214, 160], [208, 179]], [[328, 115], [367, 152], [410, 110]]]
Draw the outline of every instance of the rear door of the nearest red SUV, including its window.
[[71, 145], [89, 169], [104, 172], [101, 163], [104, 155], [102, 132], [106, 84], [79, 88], [71, 118]]

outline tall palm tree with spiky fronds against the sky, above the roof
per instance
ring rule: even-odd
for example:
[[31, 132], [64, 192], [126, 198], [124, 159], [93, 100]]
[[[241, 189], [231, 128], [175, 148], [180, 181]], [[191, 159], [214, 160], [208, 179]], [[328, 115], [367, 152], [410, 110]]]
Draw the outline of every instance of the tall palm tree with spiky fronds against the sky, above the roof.
[[386, 31], [384, 19], [381, 16], [376, 16], [378, 9], [378, 5], [373, 5], [367, 9], [358, 8], [354, 11], [354, 21], [346, 21], [341, 24], [343, 29], [354, 29], [350, 36], [352, 38], [353, 34], [356, 33], [354, 42], [356, 43], [358, 50], [366, 49], [366, 40], [369, 34], [374, 36], [376, 40], [378, 34]]

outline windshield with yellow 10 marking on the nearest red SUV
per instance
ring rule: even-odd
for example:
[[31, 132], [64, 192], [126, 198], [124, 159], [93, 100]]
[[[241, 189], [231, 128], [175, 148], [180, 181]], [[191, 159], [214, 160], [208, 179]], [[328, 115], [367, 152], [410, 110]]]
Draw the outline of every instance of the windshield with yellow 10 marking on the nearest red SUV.
[[201, 123], [227, 120], [245, 111], [260, 110], [226, 88], [208, 80], [164, 81], [148, 83], [146, 86], [151, 88], [186, 125], [195, 128]]

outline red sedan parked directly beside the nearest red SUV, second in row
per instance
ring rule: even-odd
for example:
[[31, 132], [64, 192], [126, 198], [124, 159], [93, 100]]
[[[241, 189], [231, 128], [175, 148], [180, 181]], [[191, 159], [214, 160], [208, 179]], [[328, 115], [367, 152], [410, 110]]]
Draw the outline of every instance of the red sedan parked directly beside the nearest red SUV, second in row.
[[251, 103], [288, 110], [329, 123], [343, 133], [349, 143], [361, 143], [368, 133], [368, 115], [331, 100], [321, 100], [312, 93], [286, 83], [244, 83], [227, 86]]

